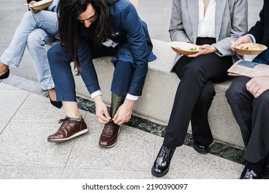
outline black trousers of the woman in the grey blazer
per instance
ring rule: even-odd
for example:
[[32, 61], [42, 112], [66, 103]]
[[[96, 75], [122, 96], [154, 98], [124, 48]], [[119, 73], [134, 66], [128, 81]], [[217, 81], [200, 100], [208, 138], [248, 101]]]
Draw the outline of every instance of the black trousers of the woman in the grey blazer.
[[[197, 39], [197, 45], [206, 43], [215, 43], [215, 39]], [[165, 145], [183, 145], [190, 121], [193, 139], [203, 144], [212, 143], [208, 110], [215, 96], [213, 83], [228, 79], [227, 70], [231, 65], [231, 57], [219, 57], [215, 53], [179, 59], [174, 70], [181, 81], [166, 128]]]

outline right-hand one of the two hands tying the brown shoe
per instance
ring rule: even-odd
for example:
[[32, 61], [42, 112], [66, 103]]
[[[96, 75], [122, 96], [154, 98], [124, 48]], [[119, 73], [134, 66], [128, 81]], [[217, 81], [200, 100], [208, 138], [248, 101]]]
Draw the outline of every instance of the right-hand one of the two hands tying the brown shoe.
[[134, 104], [135, 101], [125, 99], [124, 103], [119, 107], [116, 114], [114, 115], [112, 121], [117, 125], [128, 122], [131, 119], [132, 107]]

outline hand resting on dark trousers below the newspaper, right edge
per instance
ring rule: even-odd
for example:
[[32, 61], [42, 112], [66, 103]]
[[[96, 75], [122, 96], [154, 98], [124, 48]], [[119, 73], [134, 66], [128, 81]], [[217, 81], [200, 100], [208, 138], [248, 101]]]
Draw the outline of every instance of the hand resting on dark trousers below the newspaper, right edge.
[[255, 98], [258, 98], [265, 92], [269, 90], [269, 77], [254, 77], [246, 83], [246, 89], [250, 92]]

